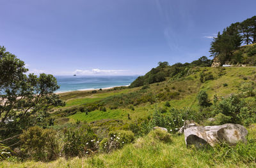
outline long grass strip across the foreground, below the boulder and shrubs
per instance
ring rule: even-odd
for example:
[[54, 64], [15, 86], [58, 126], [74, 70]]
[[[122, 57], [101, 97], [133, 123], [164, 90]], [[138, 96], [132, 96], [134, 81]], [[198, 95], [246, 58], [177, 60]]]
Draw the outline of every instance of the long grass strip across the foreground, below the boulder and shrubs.
[[150, 136], [139, 137], [112, 153], [93, 157], [59, 158], [53, 162], [8, 162], [0, 167], [256, 167], [256, 126], [248, 128], [248, 144], [234, 147], [215, 147], [196, 150], [186, 147], [184, 136], [173, 135], [171, 143]]

